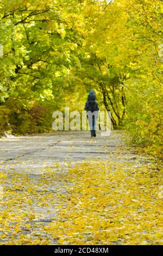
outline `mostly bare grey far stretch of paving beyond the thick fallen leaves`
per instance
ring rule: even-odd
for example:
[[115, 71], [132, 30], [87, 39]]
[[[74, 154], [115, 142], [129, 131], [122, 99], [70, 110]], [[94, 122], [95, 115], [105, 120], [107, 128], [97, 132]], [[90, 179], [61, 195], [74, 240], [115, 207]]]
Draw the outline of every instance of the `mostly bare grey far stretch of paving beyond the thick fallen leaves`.
[[[124, 146], [121, 131], [111, 136], [90, 138], [89, 132], [56, 132], [54, 135], [24, 136], [0, 139], [1, 168], [15, 164], [23, 172], [40, 173], [47, 166], [61, 161], [83, 161], [100, 157], [106, 159], [115, 153], [116, 147]], [[14, 167], [12, 167], [14, 169]]]

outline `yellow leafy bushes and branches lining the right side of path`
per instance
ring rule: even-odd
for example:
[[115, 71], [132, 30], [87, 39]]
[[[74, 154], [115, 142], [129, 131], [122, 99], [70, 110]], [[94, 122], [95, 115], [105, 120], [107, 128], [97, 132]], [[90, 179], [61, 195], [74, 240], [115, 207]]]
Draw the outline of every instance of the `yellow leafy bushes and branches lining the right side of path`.
[[[129, 5], [128, 26], [132, 28], [133, 54], [128, 69], [126, 125], [131, 142], [147, 153], [162, 156], [162, 43], [161, 1], [137, 1]], [[129, 44], [131, 45], [131, 44]], [[136, 53], [136, 54], [135, 54]]]

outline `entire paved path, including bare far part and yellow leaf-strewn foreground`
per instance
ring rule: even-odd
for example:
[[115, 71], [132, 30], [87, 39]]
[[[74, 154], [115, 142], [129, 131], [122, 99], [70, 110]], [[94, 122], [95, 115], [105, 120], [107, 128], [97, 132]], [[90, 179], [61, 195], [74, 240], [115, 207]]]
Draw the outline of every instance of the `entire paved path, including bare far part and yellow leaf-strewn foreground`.
[[121, 131], [0, 140], [0, 244], [161, 244], [160, 169]]

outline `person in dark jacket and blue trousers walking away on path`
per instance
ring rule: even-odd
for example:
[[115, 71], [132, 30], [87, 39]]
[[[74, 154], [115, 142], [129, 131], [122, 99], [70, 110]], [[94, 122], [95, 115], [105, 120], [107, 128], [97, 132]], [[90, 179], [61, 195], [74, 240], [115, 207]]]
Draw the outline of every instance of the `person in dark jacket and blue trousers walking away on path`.
[[91, 137], [96, 137], [96, 120], [98, 118], [99, 107], [93, 90], [90, 90], [84, 109], [86, 110], [87, 119], [89, 120]]

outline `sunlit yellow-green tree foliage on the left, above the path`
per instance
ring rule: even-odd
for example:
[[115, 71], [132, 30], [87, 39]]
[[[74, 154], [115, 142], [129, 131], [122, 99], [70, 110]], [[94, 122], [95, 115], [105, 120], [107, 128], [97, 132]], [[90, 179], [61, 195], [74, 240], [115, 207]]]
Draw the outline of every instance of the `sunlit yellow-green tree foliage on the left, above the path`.
[[1, 133], [49, 131], [53, 111], [74, 91], [69, 74], [79, 65], [74, 54], [80, 40], [78, 1], [9, 2], [0, 5]]

